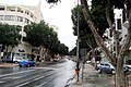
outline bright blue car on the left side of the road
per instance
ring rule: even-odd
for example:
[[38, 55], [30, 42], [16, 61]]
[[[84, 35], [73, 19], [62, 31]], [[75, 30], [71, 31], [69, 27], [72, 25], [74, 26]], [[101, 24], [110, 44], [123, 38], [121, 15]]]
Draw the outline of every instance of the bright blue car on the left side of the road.
[[24, 59], [20, 61], [19, 66], [20, 67], [29, 67], [29, 66], [35, 66], [36, 62], [32, 60]]

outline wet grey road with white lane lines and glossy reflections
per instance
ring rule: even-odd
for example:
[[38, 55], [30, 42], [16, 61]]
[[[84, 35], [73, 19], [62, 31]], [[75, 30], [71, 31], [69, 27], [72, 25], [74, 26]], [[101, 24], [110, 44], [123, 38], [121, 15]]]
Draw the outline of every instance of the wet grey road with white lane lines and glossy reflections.
[[0, 87], [64, 87], [74, 66], [67, 60], [49, 66], [0, 69]]

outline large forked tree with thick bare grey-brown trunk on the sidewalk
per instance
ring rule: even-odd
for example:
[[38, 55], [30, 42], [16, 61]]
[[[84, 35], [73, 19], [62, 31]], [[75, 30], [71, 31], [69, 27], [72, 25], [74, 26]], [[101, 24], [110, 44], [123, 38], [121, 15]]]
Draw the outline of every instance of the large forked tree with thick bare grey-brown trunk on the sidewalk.
[[[95, 2], [95, 0], [93, 0]], [[92, 2], [93, 2], [92, 1]], [[109, 28], [114, 30], [114, 37], [116, 38], [115, 40], [117, 40], [118, 38], [118, 33], [115, 30], [115, 27], [112, 26], [112, 22], [110, 20], [110, 15], [109, 15], [109, 11], [111, 9], [115, 8], [123, 8], [123, 3], [127, 5], [127, 11], [129, 12], [128, 14], [130, 14], [131, 12], [131, 0], [126, 0], [123, 2], [123, 0], [98, 0], [100, 4], [105, 5], [105, 13], [106, 13], [106, 17], [107, 17], [107, 22], [109, 25]], [[105, 46], [103, 38], [98, 35], [97, 33], [97, 27], [94, 23], [94, 21], [91, 17], [91, 11], [88, 9], [88, 4], [86, 0], [81, 0], [81, 4], [83, 7], [83, 12], [84, 12], [84, 16], [86, 20], [86, 23], [88, 24], [88, 27], [91, 28], [91, 30], [94, 34], [95, 40], [97, 42], [97, 45], [100, 47], [102, 51], [105, 53], [105, 55], [109, 59], [109, 61], [111, 62], [111, 64], [116, 67], [116, 82], [117, 82], [117, 87], [126, 87], [126, 76], [124, 76], [124, 72], [123, 72], [123, 60], [124, 60], [124, 55], [127, 54], [129, 47], [131, 46], [130, 44], [130, 39], [131, 39], [131, 27], [130, 27], [130, 23], [131, 23], [131, 17], [129, 16], [129, 28], [128, 28], [128, 35], [127, 38], [124, 39], [126, 41], [122, 44], [122, 46], [120, 47], [119, 44], [116, 45], [116, 55], [112, 54], [108, 48]], [[97, 16], [97, 15], [96, 15]], [[118, 48], [119, 47], [119, 48]], [[118, 50], [119, 49], [119, 50]]]

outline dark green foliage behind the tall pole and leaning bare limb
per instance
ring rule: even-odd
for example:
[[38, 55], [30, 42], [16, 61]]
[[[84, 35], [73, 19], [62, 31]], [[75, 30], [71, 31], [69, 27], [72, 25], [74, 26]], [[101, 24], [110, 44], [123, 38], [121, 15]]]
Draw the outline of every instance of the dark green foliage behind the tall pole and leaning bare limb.
[[[99, 28], [99, 29], [97, 29], [97, 32], [100, 36], [103, 36], [105, 29], [107, 27], [109, 27], [108, 23], [106, 21], [105, 10], [102, 9], [104, 5], [96, 4], [95, 7], [92, 7], [92, 9], [91, 9], [91, 15], [93, 17], [93, 21], [95, 22], [95, 25]], [[102, 15], [98, 15], [98, 14], [102, 14]], [[114, 12], [110, 12], [110, 14], [114, 16]], [[112, 16], [111, 16], [111, 18], [114, 18]], [[78, 20], [79, 20], [79, 25], [78, 25]], [[84, 18], [82, 5], [76, 5], [72, 10], [72, 22], [73, 22], [73, 30], [74, 30], [73, 34], [75, 36], [78, 35], [78, 26], [79, 26], [79, 32], [80, 32], [79, 37], [81, 39], [80, 48], [84, 47], [87, 49], [87, 47], [88, 47], [92, 50], [93, 57], [96, 58], [95, 48], [97, 47], [97, 44], [95, 41], [93, 33], [91, 32], [91, 29]]]

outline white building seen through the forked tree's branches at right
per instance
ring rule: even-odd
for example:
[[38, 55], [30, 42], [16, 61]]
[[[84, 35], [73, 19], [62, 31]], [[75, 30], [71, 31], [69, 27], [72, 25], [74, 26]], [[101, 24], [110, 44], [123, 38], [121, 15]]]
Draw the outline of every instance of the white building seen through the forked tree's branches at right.
[[[128, 27], [129, 23], [126, 21], [126, 14], [123, 13], [123, 10], [115, 10], [115, 29], [119, 33], [119, 45], [121, 46], [124, 42], [124, 39], [128, 34]], [[108, 40], [105, 41], [106, 46], [114, 54], [116, 53], [116, 41], [112, 36], [112, 30], [111, 29], [106, 29], [105, 35], [109, 38]], [[130, 63], [131, 64], [131, 51], [129, 49], [129, 53], [126, 55], [124, 63]]]

